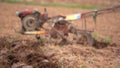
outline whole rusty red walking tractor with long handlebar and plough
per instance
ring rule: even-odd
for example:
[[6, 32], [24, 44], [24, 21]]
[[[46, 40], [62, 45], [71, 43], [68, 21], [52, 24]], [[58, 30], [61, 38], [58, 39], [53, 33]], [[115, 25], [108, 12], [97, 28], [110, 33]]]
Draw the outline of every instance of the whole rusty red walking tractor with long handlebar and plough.
[[89, 16], [96, 20], [97, 15], [118, 10], [120, 5], [67, 16], [49, 17], [46, 8], [43, 14], [37, 10], [22, 10], [16, 14], [21, 19], [21, 34], [36, 35], [37, 39], [46, 43], [94, 45], [95, 39], [91, 35], [93, 31], [86, 30], [86, 21], [83, 23], [85, 29], [73, 26], [70, 21], [86, 20]]

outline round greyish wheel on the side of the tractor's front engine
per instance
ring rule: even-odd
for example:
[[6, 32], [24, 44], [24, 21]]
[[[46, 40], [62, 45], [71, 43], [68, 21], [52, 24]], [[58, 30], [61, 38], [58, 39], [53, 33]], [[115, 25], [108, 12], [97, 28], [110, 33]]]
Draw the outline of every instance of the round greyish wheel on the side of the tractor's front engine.
[[25, 31], [34, 31], [39, 27], [39, 23], [33, 15], [28, 15], [23, 18], [22, 26]]

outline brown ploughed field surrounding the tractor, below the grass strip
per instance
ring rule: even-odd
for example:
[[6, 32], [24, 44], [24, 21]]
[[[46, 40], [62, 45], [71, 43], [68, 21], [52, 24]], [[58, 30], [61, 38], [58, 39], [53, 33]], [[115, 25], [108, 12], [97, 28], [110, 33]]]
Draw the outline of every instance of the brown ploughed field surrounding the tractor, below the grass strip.
[[[118, 1], [119, 2], [119, 1]], [[120, 13], [97, 17], [95, 33], [111, 38], [108, 45], [44, 45], [33, 35], [21, 35], [21, 21], [16, 11], [37, 8], [39, 5], [0, 2], [0, 68], [120, 68]], [[90, 9], [49, 7], [49, 16], [87, 12]], [[59, 11], [58, 11], [59, 10]], [[72, 21], [81, 27], [81, 20]], [[94, 29], [92, 18], [87, 18], [87, 29]], [[79, 25], [78, 25], [79, 24]]]

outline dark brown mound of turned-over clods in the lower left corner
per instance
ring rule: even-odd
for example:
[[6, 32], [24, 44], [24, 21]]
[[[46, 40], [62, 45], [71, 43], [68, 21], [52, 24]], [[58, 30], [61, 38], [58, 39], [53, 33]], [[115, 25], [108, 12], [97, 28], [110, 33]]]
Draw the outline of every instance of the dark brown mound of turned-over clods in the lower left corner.
[[[7, 40], [8, 38], [4, 37], [4, 39]], [[22, 42], [20, 40], [16, 44], [14, 41], [4, 41], [5, 47], [0, 49], [0, 68], [58, 68], [58, 65], [47, 58], [42, 51], [39, 50], [38, 52], [36, 48], [39, 46], [33, 47], [34, 43], [28, 40], [24, 41], [31, 45], [26, 46], [20, 43]], [[3, 41], [0, 43], [3, 44]]]

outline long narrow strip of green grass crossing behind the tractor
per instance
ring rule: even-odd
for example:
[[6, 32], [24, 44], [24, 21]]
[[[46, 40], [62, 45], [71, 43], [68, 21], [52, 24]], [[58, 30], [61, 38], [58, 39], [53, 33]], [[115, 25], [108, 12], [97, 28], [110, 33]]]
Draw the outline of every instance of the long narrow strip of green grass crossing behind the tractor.
[[51, 7], [82, 8], [82, 9], [102, 8], [101, 6], [65, 4], [65, 3], [27, 2], [26, 0], [24, 2], [22, 2], [21, 0], [0, 0], [0, 1], [8, 2], [8, 3], [24, 3], [24, 4], [32, 4], [32, 5], [40, 5], [40, 6], [51, 6]]

